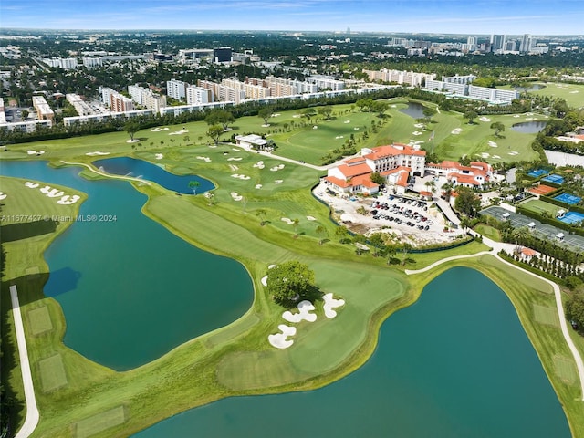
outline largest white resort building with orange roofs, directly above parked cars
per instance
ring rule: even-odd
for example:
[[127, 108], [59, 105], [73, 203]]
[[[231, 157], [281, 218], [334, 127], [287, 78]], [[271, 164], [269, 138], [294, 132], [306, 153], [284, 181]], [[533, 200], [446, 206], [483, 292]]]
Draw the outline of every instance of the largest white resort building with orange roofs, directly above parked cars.
[[396, 193], [405, 193], [409, 177], [423, 175], [425, 161], [425, 151], [405, 144], [363, 148], [360, 156], [328, 169], [324, 182], [340, 193], [375, 194], [379, 184], [373, 183], [370, 175], [378, 172], [395, 186]]

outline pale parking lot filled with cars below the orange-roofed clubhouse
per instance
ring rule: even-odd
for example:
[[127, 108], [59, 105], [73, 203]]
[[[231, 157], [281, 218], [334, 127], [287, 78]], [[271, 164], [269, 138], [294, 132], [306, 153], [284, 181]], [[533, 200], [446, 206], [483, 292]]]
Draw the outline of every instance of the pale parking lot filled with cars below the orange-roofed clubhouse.
[[323, 184], [317, 186], [314, 194], [328, 203], [335, 212], [335, 220], [360, 234], [391, 233], [396, 241], [422, 246], [448, 243], [463, 233], [460, 229], [444, 231], [445, 221], [438, 208], [432, 202], [413, 196], [381, 194], [356, 198], [338, 193], [332, 195]]

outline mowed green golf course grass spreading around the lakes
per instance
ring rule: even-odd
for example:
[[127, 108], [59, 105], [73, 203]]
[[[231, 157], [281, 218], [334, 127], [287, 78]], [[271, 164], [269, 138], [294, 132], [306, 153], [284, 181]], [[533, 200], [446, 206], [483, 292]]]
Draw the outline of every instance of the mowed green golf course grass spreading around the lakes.
[[[413, 130], [420, 129], [414, 126], [416, 120], [398, 111], [403, 101], [395, 99], [391, 105], [395, 105], [388, 111], [391, 118], [376, 135], [371, 135], [367, 144], [382, 144], [389, 138], [405, 142], [427, 141], [429, 130], [421, 136], [412, 136]], [[318, 121], [318, 130], [309, 128], [304, 138], [297, 138], [299, 144], [292, 139], [283, 144], [278, 153], [306, 153], [307, 157], [312, 153], [317, 159], [331, 146], [321, 146], [319, 141], [311, 140], [308, 133], [317, 135], [318, 131], [325, 142], [330, 135], [345, 130], [346, 125], [354, 126], [352, 124], [358, 120], [376, 117], [347, 110], [348, 107], [336, 108], [337, 120]], [[297, 115], [295, 111], [282, 113], [270, 120], [272, 126], [267, 128], [261, 128], [263, 120], [260, 118], [242, 118], [235, 123], [234, 131], [251, 131], [255, 127], [278, 130], [280, 125], [284, 129], [284, 123], [299, 119], [294, 115]], [[345, 117], [351, 118], [349, 123], [344, 123]], [[461, 117], [454, 113], [433, 117], [436, 149], [454, 135], [451, 131], [455, 128], [462, 128], [458, 135], [467, 138], [468, 143], [461, 143], [460, 148], [467, 151], [474, 147], [468, 139], [480, 137], [477, 130], [489, 130], [481, 122], [464, 126]], [[509, 123], [512, 122], [516, 119], [509, 118]], [[174, 142], [169, 141], [173, 138], [168, 136], [169, 132], [183, 128], [189, 130], [190, 139], [175, 136]], [[193, 339], [138, 369], [114, 372], [63, 345], [66, 321], [57, 301], [42, 293], [48, 273], [43, 252], [68, 224], [57, 224], [51, 232], [40, 224], [33, 225], [33, 232], [26, 227], [24, 230], [13, 228], [16, 231], [12, 235], [22, 237], [23, 233], [28, 233], [29, 236], [5, 243], [7, 257], [2, 299], [8, 297], [9, 284], [15, 283], [23, 305], [37, 403], [42, 412], [33, 436], [128, 436], [173, 414], [227, 396], [318, 388], [360, 367], [374, 351], [385, 318], [415, 302], [422, 287], [447, 267], [464, 265], [485, 272], [509, 295], [565, 406], [575, 436], [584, 437], [580, 405], [574, 401], [578, 396], [577, 384], [558, 377], [567, 375], [569, 365], [560, 364], [563, 368], [559, 374], [558, 365], [554, 365], [554, 358], [570, 361], [569, 351], [558, 328], [541, 324], [534, 317], [536, 306], [554, 306], [551, 288], [546, 283], [503, 266], [491, 256], [451, 262], [423, 275], [405, 276], [402, 272], [405, 268], [429, 266], [443, 257], [475, 254], [486, 249], [476, 242], [443, 252], [412, 254], [406, 266], [387, 266], [381, 257], [356, 255], [353, 245], [338, 243], [336, 225], [328, 218], [328, 208], [309, 193], [308, 189], [318, 182], [322, 172], [276, 158], [260, 157], [232, 145], [209, 147], [204, 137], [198, 138], [205, 130], [206, 125], [197, 122], [171, 127], [169, 131], [141, 131], [137, 136], [145, 140], [137, 151], [125, 142], [127, 134], [112, 133], [12, 146], [10, 151], [3, 152], [6, 158], [29, 158], [26, 150], [45, 150], [44, 159], [91, 162], [96, 158], [87, 156], [88, 151], [110, 151], [111, 155], [132, 154], [172, 172], [193, 172], [209, 178], [217, 186], [213, 204], [202, 195], [179, 197], [152, 184], [136, 187], [149, 196], [142, 211], [193, 245], [235, 258], [245, 266], [255, 285], [254, 303], [242, 318]], [[286, 141], [287, 134], [303, 132], [304, 128], [297, 128], [292, 132], [276, 131], [273, 135], [282, 135], [282, 141]], [[157, 141], [164, 141], [164, 144], [161, 146]], [[312, 145], [308, 144], [310, 141]], [[161, 160], [156, 159], [157, 153], [162, 153]], [[264, 162], [264, 169], [257, 167], [258, 161]], [[281, 164], [284, 166], [280, 168]], [[276, 166], [277, 171], [270, 170]], [[249, 179], [235, 178], [235, 174]], [[276, 183], [278, 180], [281, 183]], [[2, 178], [2, 184], [3, 192], [8, 193], [2, 214], [74, 215], [77, 212], [77, 204], [57, 205], [37, 190], [27, 189], [22, 180]], [[256, 188], [260, 184], [261, 187]], [[63, 190], [75, 193], [67, 188]], [[243, 199], [235, 201], [232, 192]], [[78, 194], [83, 200], [83, 193]], [[260, 210], [265, 211], [261, 217], [257, 215]], [[307, 216], [315, 220], [308, 220]], [[283, 222], [283, 217], [298, 219], [297, 228]], [[267, 224], [261, 225], [262, 220]], [[318, 243], [322, 237], [317, 234], [318, 226], [325, 229], [330, 239], [325, 245]], [[266, 275], [268, 265], [291, 259], [307, 263], [315, 271], [317, 286], [325, 293], [342, 297], [346, 305], [338, 309], [337, 318], [327, 319], [322, 314], [321, 303], [317, 302], [318, 321], [298, 324], [296, 344], [291, 349], [279, 351], [268, 344], [267, 335], [276, 333], [277, 325], [283, 323], [283, 308], [267, 296], [260, 278]], [[2, 308], [2, 312], [3, 346], [8, 351], [3, 364], [10, 365], [3, 367], [3, 377], [9, 382], [10, 391], [22, 400], [11, 314], [6, 308]], [[343, 341], [335, 340], [339, 338]], [[20, 412], [20, 420], [23, 419], [24, 412]]]

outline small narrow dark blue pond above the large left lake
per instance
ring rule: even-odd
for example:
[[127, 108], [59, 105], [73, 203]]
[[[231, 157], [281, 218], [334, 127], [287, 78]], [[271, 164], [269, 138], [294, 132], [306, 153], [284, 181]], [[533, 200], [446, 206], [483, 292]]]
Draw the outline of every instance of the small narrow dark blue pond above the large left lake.
[[[165, 189], [178, 193], [193, 194], [204, 193], [214, 189], [214, 184], [197, 175], [175, 175], [166, 172], [162, 167], [137, 160], [130, 157], [106, 158], [97, 160], [92, 164], [102, 171], [113, 175], [124, 175], [141, 178], [162, 185]], [[191, 188], [190, 183], [196, 182], [198, 185]], [[194, 190], [193, 190], [194, 189]]]

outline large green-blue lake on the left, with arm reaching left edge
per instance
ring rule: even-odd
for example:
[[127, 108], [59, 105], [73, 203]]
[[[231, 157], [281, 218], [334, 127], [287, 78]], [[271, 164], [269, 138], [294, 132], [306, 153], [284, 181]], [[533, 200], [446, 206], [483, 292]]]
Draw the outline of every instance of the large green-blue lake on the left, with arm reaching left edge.
[[89, 182], [80, 168], [1, 162], [1, 174], [89, 194], [80, 214], [115, 222], [75, 223], [45, 254], [44, 288], [67, 321], [64, 342], [114, 370], [129, 370], [241, 317], [253, 285], [245, 267], [204, 252], [141, 214], [146, 196], [128, 182]]

